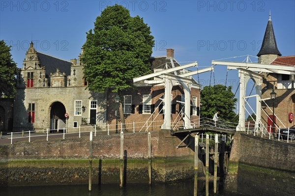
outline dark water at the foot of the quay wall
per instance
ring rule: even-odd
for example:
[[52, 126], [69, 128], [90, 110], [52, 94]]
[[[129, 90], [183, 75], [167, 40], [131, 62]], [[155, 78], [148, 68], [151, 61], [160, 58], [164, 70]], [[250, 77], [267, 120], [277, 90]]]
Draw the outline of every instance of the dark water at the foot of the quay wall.
[[[237, 196], [220, 193], [213, 194], [213, 183], [209, 183], [209, 196]], [[127, 184], [119, 188], [118, 184], [67, 186], [34, 186], [0, 188], [0, 196], [193, 196], [193, 180], [170, 184]], [[205, 182], [198, 181], [198, 196], [205, 196]]]

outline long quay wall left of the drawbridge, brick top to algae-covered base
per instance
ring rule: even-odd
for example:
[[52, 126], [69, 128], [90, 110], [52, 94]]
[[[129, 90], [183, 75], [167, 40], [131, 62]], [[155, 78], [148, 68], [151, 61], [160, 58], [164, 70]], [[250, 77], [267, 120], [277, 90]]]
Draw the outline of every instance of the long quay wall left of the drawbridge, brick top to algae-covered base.
[[[194, 152], [176, 148], [180, 140], [169, 132], [151, 132], [152, 180], [192, 179]], [[192, 142], [193, 143], [193, 142]], [[93, 137], [93, 183], [118, 183], [120, 135]], [[34, 140], [0, 146], [0, 185], [87, 184], [89, 139]], [[147, 182], [148, 133], [124, 134], [128, 182]], [[99, 163], [100, 162], [100, 163]], [[200, 175], [203, 164], [199, 162]], [[55, 173], [55, 174], [54, 174]]]

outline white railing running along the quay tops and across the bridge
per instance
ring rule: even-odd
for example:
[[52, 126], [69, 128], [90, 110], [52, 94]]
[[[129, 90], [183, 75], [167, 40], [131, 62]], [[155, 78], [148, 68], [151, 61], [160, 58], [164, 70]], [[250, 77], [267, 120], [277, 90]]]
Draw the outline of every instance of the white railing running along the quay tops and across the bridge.
[[[150, 123], [148, 125], [148, 123]], [[143, 129], [143, 127], [146, 127], [147, 131], [159, 131], [160, 130], [160, 126], [163, 124], [163, 120], [159, 120], [159, 121], [144, 121], [144, 122], [131, 122], [131, 123], [126, 123], [125, 126], [127, 127], [127, 130], [132, 130], [132, 133], [135, 132], [140, 132], [140, 130]], [[174, 125], [176, 125], [175, 123], [172, 123]], [[200, 119], [196, 119], [196, 120], [192, 120], [191, 121], [191, 125], [193, 128], [197, 128], [199, 126], [200, 127], [215, 127], [214, 126], [214, 122], [212, 119], [210, 118], [200, 118]], [[177, 130], [181, 130], [184, 126], [184, 122], [177, 122]], [[255, 124], [251, 124], [254, 125]], [[224, 129], [224, 130], [235, 130], [237, 126], [237, 123], [233, 123], [233, 122], [228, 122], [228, 121], [224, 121], [224, 120], [219, 120], [217, 121], [216, 124], [216, 128], [220, 128], [220, 129]], [[266, 137], [266, 133], [268, 133], [268, 139], [274, 139], [274, 134], [275, 133], [269, 133], [266, 129], [266, 126], [262, 124], [262, 129], [261, 129], [261, 137]], [[67, 137], [79, 137], [81, 138], [81, 134], [82, 133], [90, 133], [91, 131], [94, 132], [94, 137], [96, 137], [96, 133], [101, 132], [101, 133], [106, 133], [107, 135], [110, 135], [110, 132], [112, 133], [121, 133], [123, 130], [123, 124], [122, 123], [118, 123], [116, 124], [105, 124], [99, 127], [100, 129], [98, 129], [98, 127], [96, 125], [91, 125], [91, 126], [79, 126], [79, 127], [75, 127], [75, 128], [63, 128], [63, 129], [59, 129], [58, 131], [56, 129], [43, 129], [43, 130], [34, 130], [34, 131], [25, 131], [25, 132], [11, 132], [11, 133], [7, 133], [8, 136], [10, 136], [10, 138], [8, 137], [7, 139], [10, 139], [10, 143], [13, 143], [13, 140], [15, 139], [24, 139], [27, 138], [27, 140], [30, 142], [31, 140], [34, 140], [36, 138], [45, 138], [47, 141], [50, 138], [57, 138], [57, 136], [61, 136], [62, 139], [64, 140]], [[253, 134], [254, 136], [257, 135], [258, 136], [258, 131], [254, 129], [250, 129], [250, 122], [248, 122], [248, 124], [246, 124], [245, 126], [245, 130], [247, 134]], [[272, 127], [271, 127], [272, 128]], [[54, 133], [56, 132], [56, 133]], [[292, 137], [290, 137], [289, 135], [289, 129], [288, 129], [288, 133], [281, 133], [280, 132], [280, 127], [279, 127], [279, 132], [278, 132], [278, 140], [286, 140], [287, 142], [293, 142], [294, 139]], [[72, 136], [71, 136], [72, 135]], [[55, 137], [54, 137], [55, 136]], [[40, 138], [40, 139], [41, 139]], [[203, 138], [200, 137], [202, 140]], [[230, 140], [230, 139], [227, 139]], [[283, 141], [284, 141], [283, 140]]]

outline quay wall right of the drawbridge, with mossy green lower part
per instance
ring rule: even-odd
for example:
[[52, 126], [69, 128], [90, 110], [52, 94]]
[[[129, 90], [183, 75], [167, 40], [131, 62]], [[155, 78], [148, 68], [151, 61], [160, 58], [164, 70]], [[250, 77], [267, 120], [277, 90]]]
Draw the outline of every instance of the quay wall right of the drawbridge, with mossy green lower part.
[[295, 143], [235, 134], [225, 190], [250, 195], [295, 192]]

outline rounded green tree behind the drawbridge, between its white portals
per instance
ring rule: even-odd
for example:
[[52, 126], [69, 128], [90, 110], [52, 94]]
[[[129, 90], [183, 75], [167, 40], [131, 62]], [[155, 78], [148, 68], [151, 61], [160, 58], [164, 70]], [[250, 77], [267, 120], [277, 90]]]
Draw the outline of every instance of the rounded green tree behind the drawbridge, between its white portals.
[[236, 117], [236, 101], [232, 86], [205, 86], [201, 90], [201, 117], [212, 118], [218, 111], [220, 119], [233, 122]]

